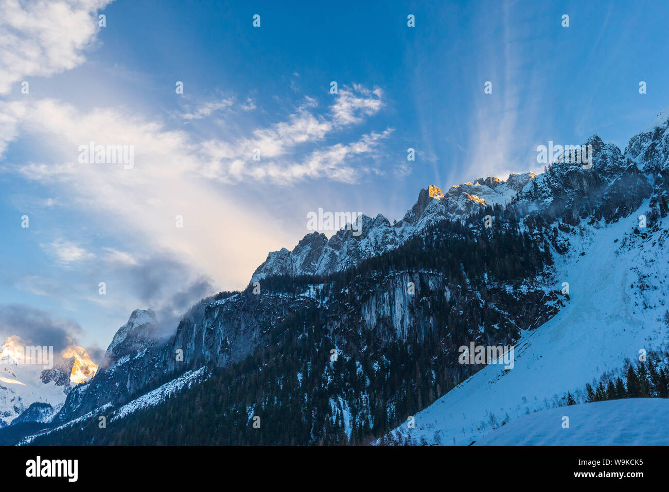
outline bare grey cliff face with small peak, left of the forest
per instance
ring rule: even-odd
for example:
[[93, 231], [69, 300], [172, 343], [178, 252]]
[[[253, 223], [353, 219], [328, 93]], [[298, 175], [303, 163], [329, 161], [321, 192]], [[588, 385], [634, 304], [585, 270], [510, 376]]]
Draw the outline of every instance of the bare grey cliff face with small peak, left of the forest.
[[292, 311], [314, 300], [262, 293], [205, 299], [183, 317], [173, 335], [151, 310], [136, 310], [110, 343], [96, 377], [70, 392], [55, 422], [65, 422], [108, 402], [124, 404], [189, 369], [239, 362], [267, 341], [268, 332]]

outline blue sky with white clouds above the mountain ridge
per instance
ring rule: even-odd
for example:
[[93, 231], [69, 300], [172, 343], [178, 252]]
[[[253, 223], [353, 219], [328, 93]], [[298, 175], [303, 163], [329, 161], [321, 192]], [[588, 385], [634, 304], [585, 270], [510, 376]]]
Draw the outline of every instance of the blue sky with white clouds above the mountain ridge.
[[[623, 149], [669, 104], [662, 2], [4, 5], [0, 317], [88, 347], [244, 287], [310, 211], [399, 219], [429, 184], [540, 171], [549, 140]], [[78, 163], [91, 140], [134, 167]]]

